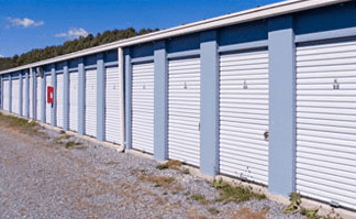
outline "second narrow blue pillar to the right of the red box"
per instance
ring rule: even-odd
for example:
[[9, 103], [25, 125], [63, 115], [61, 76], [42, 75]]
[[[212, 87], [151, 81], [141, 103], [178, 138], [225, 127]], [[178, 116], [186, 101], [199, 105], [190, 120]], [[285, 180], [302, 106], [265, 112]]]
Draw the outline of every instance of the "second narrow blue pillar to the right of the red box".
[[63, 66], [63, 86], [64, 86], [64, 100], [63, 100], [63, 129], [69, 130], [69, 72], [68, 72], [68, 63], [65, 62]]

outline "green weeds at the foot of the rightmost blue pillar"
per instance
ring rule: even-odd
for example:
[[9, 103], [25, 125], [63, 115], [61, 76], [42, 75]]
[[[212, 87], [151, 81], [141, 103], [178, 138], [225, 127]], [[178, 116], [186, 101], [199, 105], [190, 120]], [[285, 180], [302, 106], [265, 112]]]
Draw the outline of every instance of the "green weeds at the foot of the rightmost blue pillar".
[[313, 208], [313, 209], [307, 209], [301, 207], [301, 198], [300, 198], [300, 194], [297, 193], [291, 193], [289, 194], [290, 198], [290, 204], [287, 208], [285, 208], [282, 210], [282, 212], [285, 213], [297, 213], [300, 212], [300, 215], [305, 216], [308, 219], [321, 219], [321, 218], [325, 218], [325, 219], [337, 219], [331, 216], [327, 217], [321, 217], [318, 215], [319, 209]]

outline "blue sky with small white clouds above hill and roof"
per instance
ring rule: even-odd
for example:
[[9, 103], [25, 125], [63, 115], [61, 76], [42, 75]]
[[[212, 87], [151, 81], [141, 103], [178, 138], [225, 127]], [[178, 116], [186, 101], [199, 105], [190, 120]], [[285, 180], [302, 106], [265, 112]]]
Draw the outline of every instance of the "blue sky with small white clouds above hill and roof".
[[107, 30], [168, 29], [281, 0], [0, 0], [0, 56]]

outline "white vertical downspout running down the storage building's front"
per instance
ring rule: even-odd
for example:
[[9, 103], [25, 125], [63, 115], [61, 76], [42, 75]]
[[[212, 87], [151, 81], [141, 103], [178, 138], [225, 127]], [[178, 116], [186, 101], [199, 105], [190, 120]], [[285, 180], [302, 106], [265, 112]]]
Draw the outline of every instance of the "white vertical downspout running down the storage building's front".
[[119, 78], [120, 78], [120, 117], [121, 117], [121, 149], [118, 149], [120, 152], [125, 151], [125, 102], [124, 102], [124, 58], [123, 50], [119, 47]]

